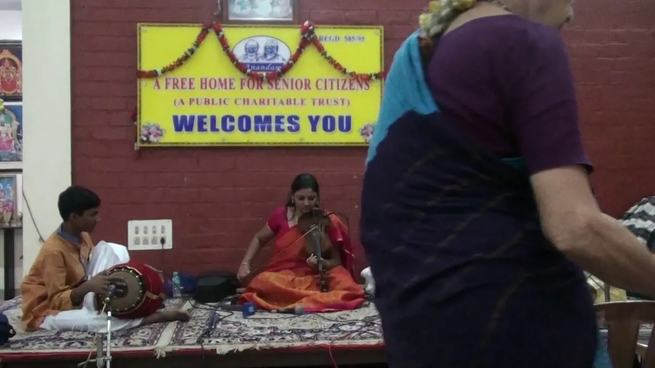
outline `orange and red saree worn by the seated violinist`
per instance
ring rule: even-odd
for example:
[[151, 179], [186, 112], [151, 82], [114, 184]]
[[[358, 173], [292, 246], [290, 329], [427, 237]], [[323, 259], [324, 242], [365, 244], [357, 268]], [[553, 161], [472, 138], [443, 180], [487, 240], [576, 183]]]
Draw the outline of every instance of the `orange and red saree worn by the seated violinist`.
[[248, 284], [240, 302], [251, 302], [264, 310], [303, 306], [310, 313], [362, 306], [364, 289], [354, 281], [354, 255], [343, 221], [330, 217], [327, 236], [341, 251], [341, 265], [325, 272], [325, 293], [320, 291], [317, 272], [307, 265], [305, 238], [299, 239], [301, 235], [297, 226], [278, 234], [269, 265]]

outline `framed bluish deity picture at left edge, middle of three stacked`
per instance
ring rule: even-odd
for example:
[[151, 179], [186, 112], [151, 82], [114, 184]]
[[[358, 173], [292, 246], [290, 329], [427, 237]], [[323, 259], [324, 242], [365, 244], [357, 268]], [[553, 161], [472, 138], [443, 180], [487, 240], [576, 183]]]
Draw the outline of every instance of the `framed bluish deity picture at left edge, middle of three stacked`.
[[23, 103], [0, 102], [0, 170], [22, 170]]

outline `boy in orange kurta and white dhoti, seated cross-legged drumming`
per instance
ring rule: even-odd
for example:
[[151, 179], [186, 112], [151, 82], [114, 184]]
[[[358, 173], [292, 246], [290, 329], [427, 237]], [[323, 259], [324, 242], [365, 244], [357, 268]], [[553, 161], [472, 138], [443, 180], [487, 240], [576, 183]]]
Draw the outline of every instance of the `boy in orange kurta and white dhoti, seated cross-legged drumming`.
[[[100, 221], [100, 198], [73, 186], [57, 203], [64, 222], [43, 243], [21, 284], [23, 323], [36, 329], [105, 332], [107, 316], [96, 311], [94, 294], [107, 293], [109, 284], [121, 286], [103, 272], [130, 260], [124, 246], [101, 242], [94, 247], [88, 233]], [[112, 318], [112, 331], [159, 322], [189, 320], [186, 312], [159, 311], [138, 320]]]

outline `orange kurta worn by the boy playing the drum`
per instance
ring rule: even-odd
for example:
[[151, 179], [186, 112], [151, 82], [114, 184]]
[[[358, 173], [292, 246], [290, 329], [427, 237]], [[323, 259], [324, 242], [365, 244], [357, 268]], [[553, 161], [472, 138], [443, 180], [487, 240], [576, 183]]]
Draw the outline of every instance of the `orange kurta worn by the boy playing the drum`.
[[79, 244], [72, 244], [58, 232], [43, 243], [29, 274], [20, 285], [26, 330], [39, 329], [46, 316], [81, 308], [82, 304], [73, 305], [71, 291], [86, 278], [80, 257], [88, 264], [92, 248], [91, 238], [86, 232], [82, 233]]

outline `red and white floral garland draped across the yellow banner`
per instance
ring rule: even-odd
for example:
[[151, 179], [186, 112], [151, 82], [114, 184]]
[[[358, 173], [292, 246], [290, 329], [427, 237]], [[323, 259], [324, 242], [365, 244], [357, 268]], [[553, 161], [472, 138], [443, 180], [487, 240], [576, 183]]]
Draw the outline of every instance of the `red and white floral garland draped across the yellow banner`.
[[290, 71], [291, 67], [293, 67], [293, 65], [295, 65], [298, 62], [298, 59], [303, 54], [303, 52], [305, 52], [305, 49], [309, 45], [314, 45], [318, 50], [318, 52], [320, 52], [321, 56], [323, 56], [323, 58], [327, 60], [327, 62], [329, 62], [329, 64], [332, 65], [332, 67], [337, 69], [337, 71], [339, 71], [343, 75], [347, 75], [352, 79], [375, 81], [378, 79], [384, 79], [384, 77], [386, 77], [386, 71], [379, 71], [377, 73], [356, 73], [355, 71], [350, 71], [346, 69], [346, 67], [339, 64], [339, 62], [337, 62], [335, 58], [327, 54], [325, 47], [319, 41], [318, 37], [316, 37], [315, 28], [316, 26], [313, 23], [305, 22], [305, 24], [303, 24], [303, 26], [301, 26], [300, 28], [301, 37], [300, 37], [300, 42], [298, 43], [298, 48], [295, 50], [293, 55], [291, 55], [290, 60], [288, 60], [288, 62], [286, 62], [284, 65], [282, 65], [282, 67], [278, 68], [276, 71], [262, 73], [259, 71], [252, 71], [248, 69], [248, 66], [245, 63], [240, 62], [238, 58], [236, 58], [236, 55], [234, 54], [232, 47], [230, 46], [230, 43], [227, 41], [227, 37], [225, 37], [225, 31], [223, 31], [223, 26], [221, 26], [221, 24], [218, 24], [217, 22], [205, 23], [202, 25], [202, 30], [198, 34], [198, 37], [196, 37], [196, 41], [182, 56], [178, 58], [178, 60], [172, 62], [172, 64], [162, 67], [161, 69], [137, 71], [136, 76], [138, 78], [157, 78], [170, 71], [174, 71], [175, 69], [178, 69], [178, 67], [181, 67], [185, 62], [187, 62], [187, 60], [191, 59], [191, 56], [193, 56], [196, 50], [198, 50], [198, 47], [200, 47], [202, 41], [204, 41], [207, 35], [209, 34], [209, 32], [213, 30], [218, 37], [218, 41], [221, 44], [223, 51], [230, 59], [232, 64], [236, 67], [236, 69], [241, 71], [241, 73], [243, 73], [244, 75], [260, 81], [273, 81], [283, 77], [286, 73], [288, 73], [288, 71]]

